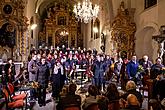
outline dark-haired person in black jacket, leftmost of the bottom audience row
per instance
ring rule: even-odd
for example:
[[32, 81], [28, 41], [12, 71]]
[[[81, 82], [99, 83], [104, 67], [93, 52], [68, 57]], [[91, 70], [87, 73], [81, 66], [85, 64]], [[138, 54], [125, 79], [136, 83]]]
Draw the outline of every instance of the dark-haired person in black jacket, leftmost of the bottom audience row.
[[77, 106], [80, 108], [81, 106], [81, 97], [75, 94], [77, 89], [76, 84], [69, 85], [69, 92], [62, 96], [57, 104], [57, 110], [64, 110], [66, 107], [69, 106]]

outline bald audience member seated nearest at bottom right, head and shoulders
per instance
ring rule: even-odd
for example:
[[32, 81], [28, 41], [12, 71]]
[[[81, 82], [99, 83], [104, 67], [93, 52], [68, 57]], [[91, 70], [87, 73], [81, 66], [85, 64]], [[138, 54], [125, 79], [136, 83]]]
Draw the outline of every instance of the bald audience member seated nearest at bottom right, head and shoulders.
[[140, 103], [135, 95], [129, 94], [126, 103], [127, 107], [122, 110], [140, 110]]

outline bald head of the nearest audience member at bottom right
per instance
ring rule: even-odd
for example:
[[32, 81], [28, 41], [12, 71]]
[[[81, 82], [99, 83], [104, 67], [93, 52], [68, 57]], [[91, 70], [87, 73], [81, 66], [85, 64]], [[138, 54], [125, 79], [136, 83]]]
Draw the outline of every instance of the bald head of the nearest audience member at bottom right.
[[139, 103], [137, 97], [133, 94], [129, 94], [127, 96], [127, 103], [128, 103], [128, 106], [132, 106], [132, 105], [140, 106], [140, 103]]

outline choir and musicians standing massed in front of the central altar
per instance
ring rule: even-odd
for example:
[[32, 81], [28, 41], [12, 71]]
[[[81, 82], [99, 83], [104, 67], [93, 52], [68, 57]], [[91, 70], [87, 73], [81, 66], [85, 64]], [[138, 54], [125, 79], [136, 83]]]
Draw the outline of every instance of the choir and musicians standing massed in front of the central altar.
[[[82, 78], [87, 77], [98, 90], [101, 90], [102, 85], [105, 85], [105, 71], [112, 64], [108, 55], [97, 54], [96, 50], [66, 49], [64, 46], [61, 49], [58, 47], [38, 51], [33, 49], [29, 58], [29, 81], [38, 82], [40, 89], [43, 89], [43, 94], [50, 81], [52, 97], [56, 100], [59, 99], [59, 93], [64, 84], [77, 78], [77, 68], [85, 69]], [[31, 90], [31, 98], [35, 99], [35, 90]]]

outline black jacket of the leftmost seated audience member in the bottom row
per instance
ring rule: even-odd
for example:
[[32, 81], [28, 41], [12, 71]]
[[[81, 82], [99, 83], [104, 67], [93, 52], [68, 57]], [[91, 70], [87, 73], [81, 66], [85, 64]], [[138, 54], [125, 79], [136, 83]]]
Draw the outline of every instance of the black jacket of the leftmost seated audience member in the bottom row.
[[70, 105], [75, 105], [77, 107], [81, 106], [81, 97], [73, 93], [68, 93], [66, 96], [62, 96], [57, 105], [57, 110], [64, 110]]

